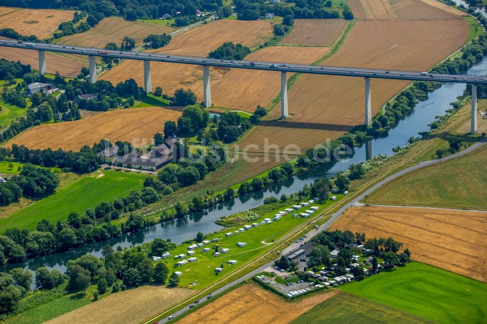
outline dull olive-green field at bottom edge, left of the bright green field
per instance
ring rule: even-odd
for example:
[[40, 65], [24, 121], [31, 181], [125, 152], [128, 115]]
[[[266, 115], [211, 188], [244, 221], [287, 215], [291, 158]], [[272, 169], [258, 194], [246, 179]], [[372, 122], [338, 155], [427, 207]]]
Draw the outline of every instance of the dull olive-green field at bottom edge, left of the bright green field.
[[397, 323], [420, 324], [427, 320], [399, 309], [341, 291], [311, 308], [291, 324]]

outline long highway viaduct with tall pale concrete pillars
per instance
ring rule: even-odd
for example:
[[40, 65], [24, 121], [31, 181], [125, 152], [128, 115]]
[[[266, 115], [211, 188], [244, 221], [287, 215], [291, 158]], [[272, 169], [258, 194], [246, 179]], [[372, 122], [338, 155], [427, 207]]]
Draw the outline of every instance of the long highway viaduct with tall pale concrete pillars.
[[370, 125], [372, 122], [372, 104], [371, 104], [371, 92], [370, 92], [371, 78], [390, 79], [390, 80], [409, 80], [409, 81], [470, 83], [472, 85], [472, 107], [471, 107], [472, 110], [471, 110], [471, 128], [470, 128], [471, 133], [477, 132], [477, 85], [479, 84], [487, 85], [486, 77], [471, 76], [471, 75], [433, 74], [433, 73], [426, 73], [426, 72], [410, 72], [410, 71], [387, 71], [387, 70], [314, 66], [314, 65], [261, 62], [261, 61], [253, 61], [253, 62], [237, 61], [237, 60], [232, 61], [232, 60], [220, 60], [220, 59], [181, 56], [181, 55], [109, 51], [109, 50], [102, 50], [98, 48], [88, 48], [88, 47], [68, 46], [68, 45], [43, 44], [43, 43], [31, 43], [31, 42], [19, 43], [16, 40], [2, 40], [2, 39], [0, 39], [0, 46], [38, 51], [39, 72], [41, 74], [46, 73], [45, 51], [55, 52], [55, 53], [65, 53], [65, 54], [87, 55], [89, 57], [90, 81], [92, 83], [96, 82], [96, 61], [95, 61], [96, 56], [143, 61], [144, 62], [144, 89], [147, 93], [152, 91], [152, 81], [150, 76], [151, 61], [201, 65], [203, 67], [203, 92], [204, 92], [205, 107], [211, 107], [211, 90], [210, 90], [210, 73], [209, 73], [210, 66], [233, 68], [233, 69], [265, 70], [265, 71], [280, 72], [281, 73], [281, 116], [282, 118], [288, 116], [287, 85], [286, 85], [287, 72], [361, 77], [365, 79], [365, 124], [366, 125]]

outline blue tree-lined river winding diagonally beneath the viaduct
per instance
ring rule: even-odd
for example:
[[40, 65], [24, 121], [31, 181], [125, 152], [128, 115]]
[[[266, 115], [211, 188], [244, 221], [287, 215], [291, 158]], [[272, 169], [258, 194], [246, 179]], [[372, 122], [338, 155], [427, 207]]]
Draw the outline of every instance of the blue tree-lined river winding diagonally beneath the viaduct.
[[[467, 74], [486, 75], [486, 70], [487, 61], [484, 60], [470, 68]], [[152, 241], [155, 237], [170, 238], [172, 242], [180, 244], [187, 239], [195, 237], [198, 232], [208, 234], [218, 231], [222, 227], [215, 224], [215, 220], [222, 216], [229, 216], [262, 205], [263, 199], [266, 197], [280, 197], [282, 194], [290, 195], [298, 192], [305, 183], [310, 184], [317, 178], [345, 171], [351, 163], [364, 162], [367, 158], [375, 157], [378, 154], [392, 155], [394, 147], [397, 145], [404, 146], [411, 136], [417, 137], [418, 132], [429, 130], [428, 124], [435, 120], [435, 116], [444, 115], [445, 110], [451, 109], [450, 103], [456, 101], [456, 97], [462, 95], [465, 89], [465, 84], [444, 84], [441, 88], [431, 92], [428, 100], [417, 104], [409, 115], [405, 116], [397, 126], [389, 131], [387, 136], [370, 141], [360, 148], [355, 148], [355, 154], [351, 159], [337, 162], [331, 168], [326, 164], [321, 164], [312, 171], [294, 176], [284, 183], [274, 183], [262, 191], [239, 197], [234, 201], [218, 206], [215, 210], [193, 213], [184, 218], [157, 224], [144, 231], [125, 234], [122, 237], [106, 241], [85, 244], [68, 252], [53, 253], [27, 259], [21, 263], [3, 265], [0, 267], [0, 271], [8, 271], [19, 267], [35, 271], [37, 268], [45, 266], [49, 269], [64, 272], [66, 270], [65, 264], [68, 260], [78, 258], [87, 253], [99, 257], [101, 256], [101, 248], [106, 244], [110, 244], [113, 248], [118, 246], [130, 247]], [[372, 93], [373, 95], [374, 93]]]

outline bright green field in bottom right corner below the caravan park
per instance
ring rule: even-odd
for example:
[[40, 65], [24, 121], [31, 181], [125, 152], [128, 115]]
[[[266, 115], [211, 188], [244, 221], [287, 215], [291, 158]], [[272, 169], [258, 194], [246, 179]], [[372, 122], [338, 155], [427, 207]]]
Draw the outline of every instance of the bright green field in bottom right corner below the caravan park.
[[440, 323], [482, 323], [487, 318], [487, 284], [412, 262], [340, 287]]

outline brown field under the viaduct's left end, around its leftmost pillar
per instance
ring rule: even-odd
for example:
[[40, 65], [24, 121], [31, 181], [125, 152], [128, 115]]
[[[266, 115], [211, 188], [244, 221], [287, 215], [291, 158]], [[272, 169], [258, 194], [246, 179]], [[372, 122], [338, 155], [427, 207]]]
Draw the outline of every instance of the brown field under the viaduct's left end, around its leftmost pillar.
[[[23, 64], [30, 64], [35, 70], [39, 69], [37, 51], [0, 47], [0, 58], [8, 61], [20, 61]], [[62, 76], [74, 78], [79, 74], [82, 67], [88, 66], [88, 60], [82, 55], [70, 55], [68, 58], [61, 56], [61, 54], [46, 52], [46, 65], [48, 73], [55, 74], [58, 71]]]

